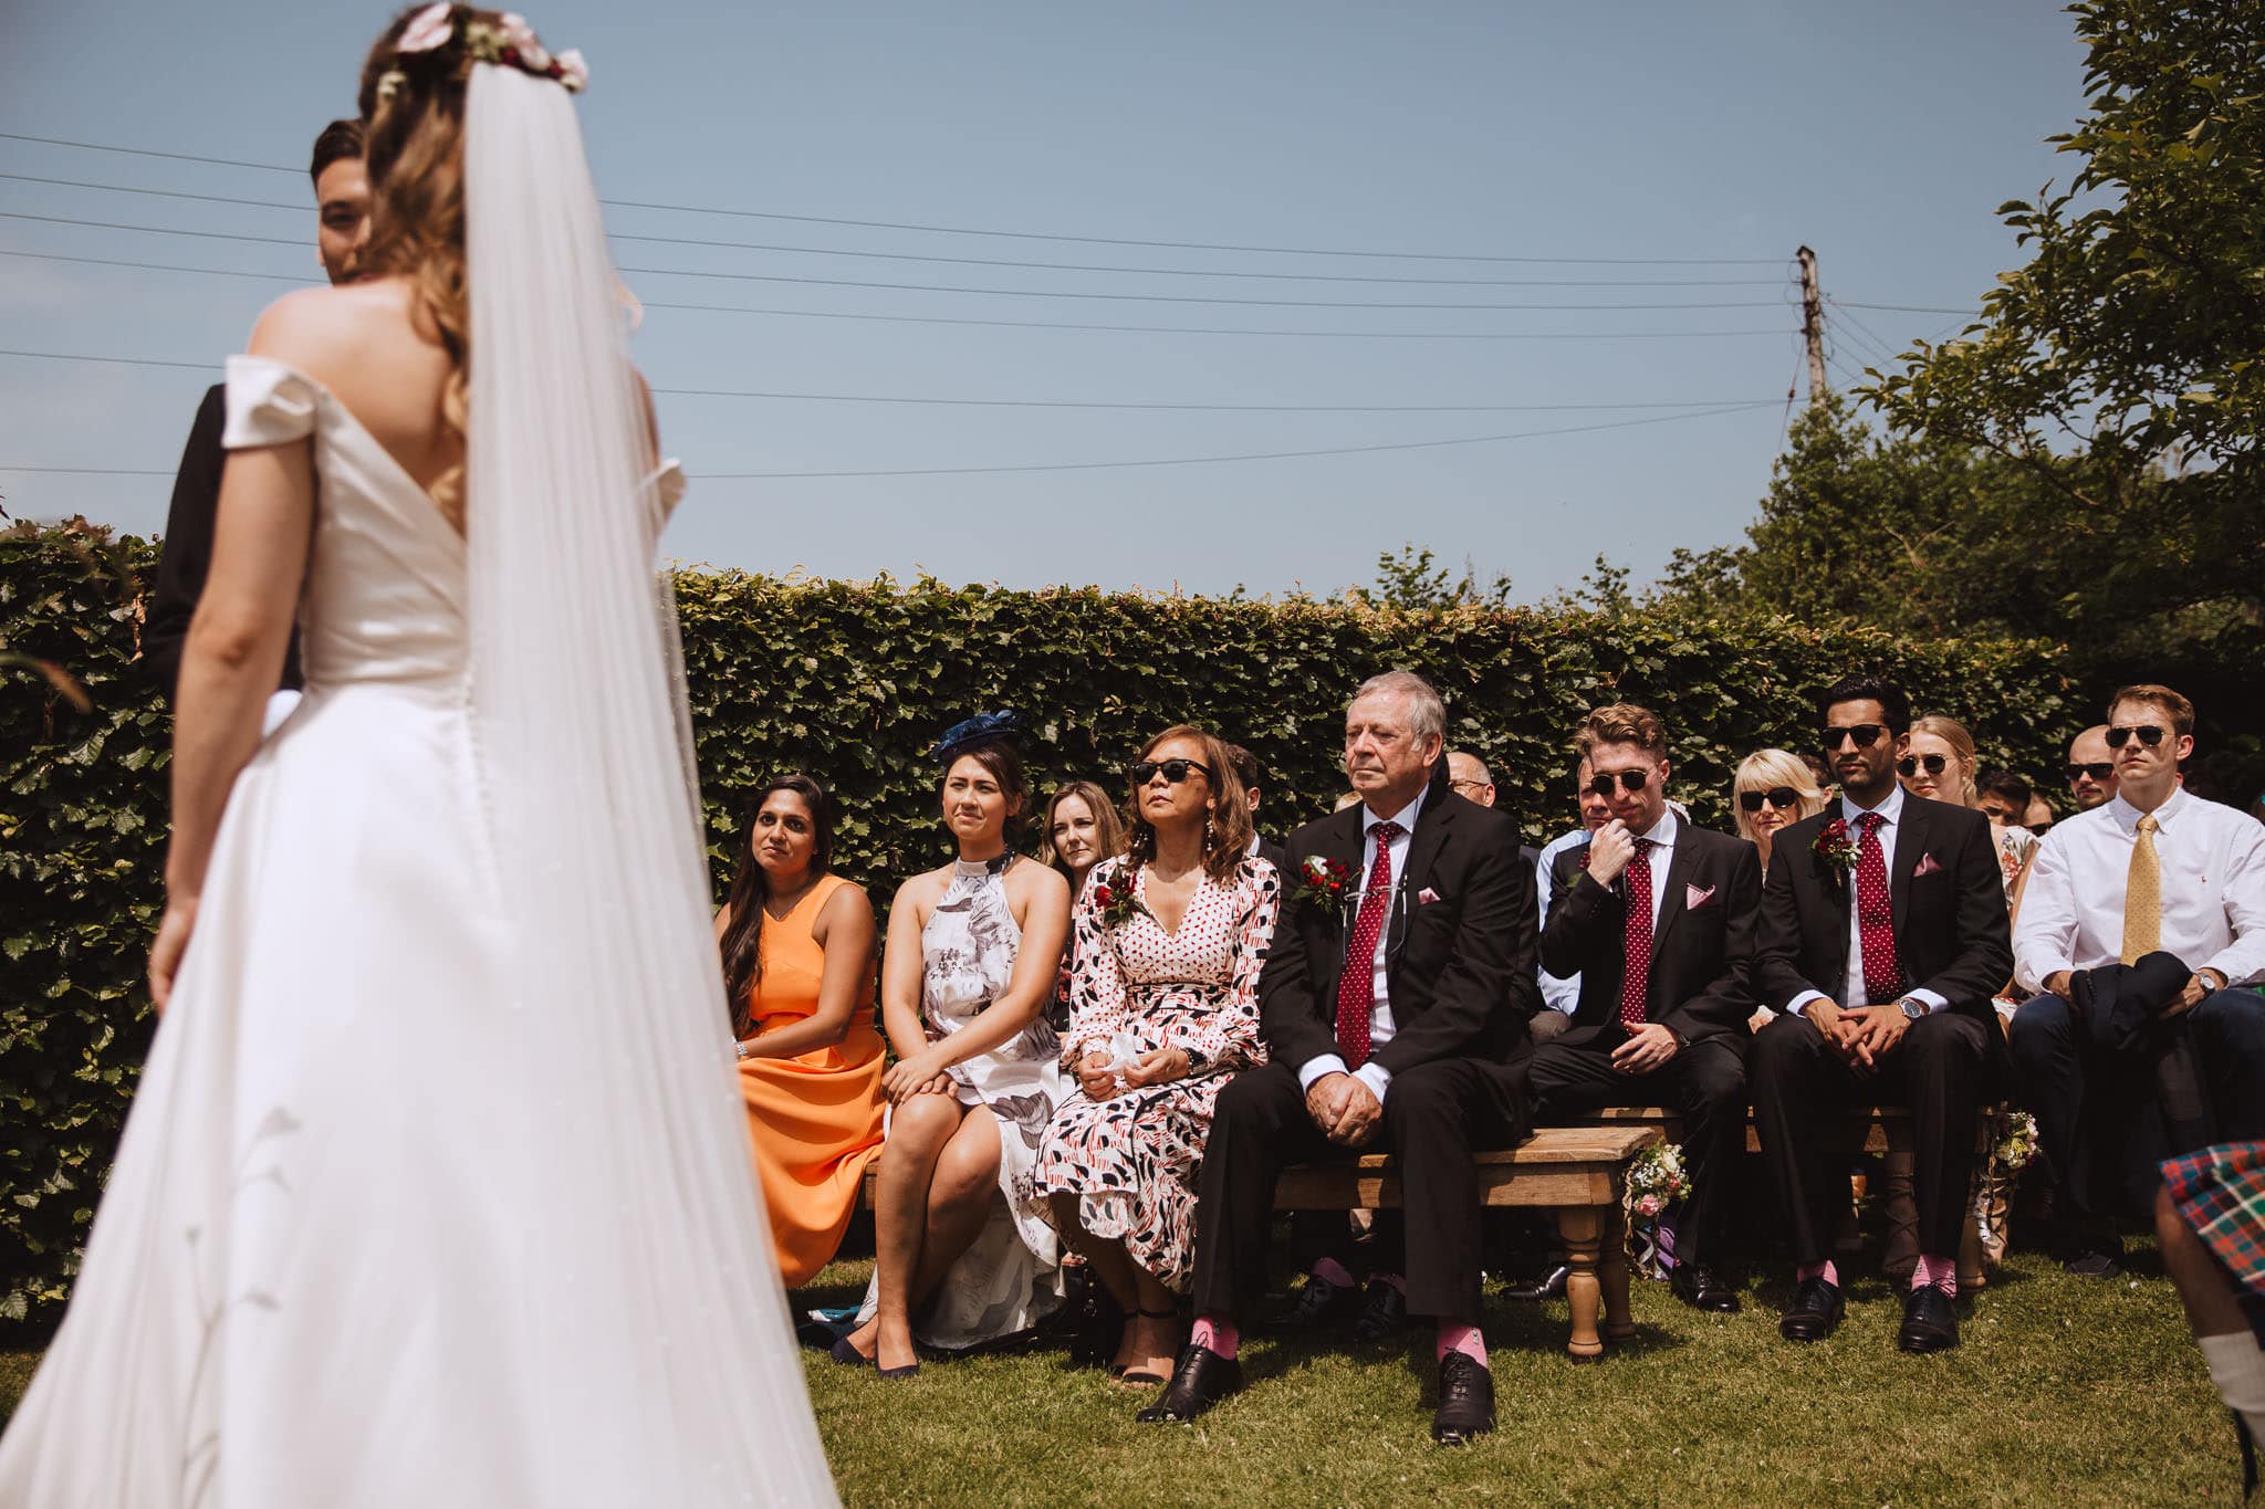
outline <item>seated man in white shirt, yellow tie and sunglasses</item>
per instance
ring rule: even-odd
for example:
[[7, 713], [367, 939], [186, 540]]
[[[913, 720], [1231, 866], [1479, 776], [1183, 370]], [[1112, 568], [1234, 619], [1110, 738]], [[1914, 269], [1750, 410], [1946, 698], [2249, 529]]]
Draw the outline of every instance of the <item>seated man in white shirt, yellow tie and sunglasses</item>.
[[[2045, 835], [2014, 934], [2016, 977], [2036, 998], [2011, 1027], [2066, 1265], [2095, 1278], [2116, 1271], [2113, 1217], [2152, 1208], [2159, 1158], [2265, 1138], [2265, 1000], [2226, 989], [2265, 980], [2265, 828], [2179, 785], [2195, 747], [2179, 692], [2127, 685], [2106, 726], [2116, 796]], [[2170, 998], [2145, 1000], [2118, 964], [2168, 968]], [[2102, 986], [2131, 995], [2136, 1018], [2109, 1011]], [[2215, 1120], [2202, 1142], [2159, 1090], [2181, 1043]]]

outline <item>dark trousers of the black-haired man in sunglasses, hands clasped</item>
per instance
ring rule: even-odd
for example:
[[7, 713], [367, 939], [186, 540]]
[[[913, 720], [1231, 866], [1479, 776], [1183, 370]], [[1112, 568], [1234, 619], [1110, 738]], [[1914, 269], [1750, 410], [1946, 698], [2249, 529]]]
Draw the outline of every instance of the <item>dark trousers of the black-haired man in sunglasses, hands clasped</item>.
[[1753, 1122], [1762, 1161], [1794, 1238], [1794, 1262], [1832, 1256], [1839, 1213], [1848, 1208], [1848, 1161], [1835, 1122], [1853, 1106], [1909, 1106], [1918, 1195], [1918, 1249], [1955, 1258], [1975, 1165], [1989, 1027], [1957, 1011], [1912, 1023], [1894, 1052], [1864, 1070], [1848, 1063], [1805, 1016], [1762, 1027], [1746, 1054]]

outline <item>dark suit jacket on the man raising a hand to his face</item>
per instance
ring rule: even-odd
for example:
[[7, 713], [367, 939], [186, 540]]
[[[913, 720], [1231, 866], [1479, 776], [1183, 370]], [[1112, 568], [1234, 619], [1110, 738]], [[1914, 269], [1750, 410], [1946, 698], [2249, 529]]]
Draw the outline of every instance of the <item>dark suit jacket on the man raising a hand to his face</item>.
[[[1574, 846], [1572, 882], [1556, 889], [1542, 925], [1542, 968], [1581, 973], [1581, 1007], [1572, 1025], [1619, 1020], [1626, 977], [1626, 878], [1601, 887], [1579, 869], [1586, 844]], [[1690, 905], [1699, 894], [1696, 907]], [[1667, 857], [1667, 891], [1651, 921], [1651, 982], [1644, 1018], [1665, 1023], [1685, 1043], [1746, 1036], [1753, 1016], [1753, 925], [1762, 905], [1762, 862], [1753, 844], [1676, 819]]]

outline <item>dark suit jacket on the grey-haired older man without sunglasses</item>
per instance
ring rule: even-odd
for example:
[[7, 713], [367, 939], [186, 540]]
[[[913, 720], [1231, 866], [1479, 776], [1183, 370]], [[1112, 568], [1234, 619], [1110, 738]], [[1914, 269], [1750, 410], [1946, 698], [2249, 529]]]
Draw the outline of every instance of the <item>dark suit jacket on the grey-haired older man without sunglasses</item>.
[[[1359, 878], [1368, 860], [1364, 848], [1361, 808], [1307, 824], [1289, 835], [1284, 894], [1296, 896], [1314, 855]], [[1436, 900], [1422, 900], [1427, 891]], [[1386, 1072], [1436, 1059], [1508, 1061], [1531, 1047], [1527, 1020], [1540, 1009], [1533, 909], [1533, 871], [1518, 857], [1518, 824], [1456, 796], [1441, 760], [1409, 835], [1384, 934], [1395, 1032], [1375, 1061]], [[1348, 932], [1345, 907], [1302, 900], [1275, 925], [1259, 975], [1259, 1036], [1289, 1068], [1336, 1052], [1336, 982]]]

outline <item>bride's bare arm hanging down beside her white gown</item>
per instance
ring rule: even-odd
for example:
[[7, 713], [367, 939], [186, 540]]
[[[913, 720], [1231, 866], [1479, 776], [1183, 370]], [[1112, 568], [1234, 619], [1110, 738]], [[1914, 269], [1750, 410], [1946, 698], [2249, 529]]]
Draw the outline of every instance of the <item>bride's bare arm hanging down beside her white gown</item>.
[[[258, 337], [251, 348], [263, 351]], [[260, 747], [260, 713], [283, 676], [313, 518], [313, 441], [229, 452], [220, 473], [213, 570], [188, 624], [174, 704], [165, 919], [149, 950], [149, 993], [161, 1011], [197, 921], [229, 787]]]

